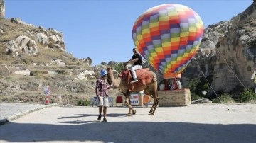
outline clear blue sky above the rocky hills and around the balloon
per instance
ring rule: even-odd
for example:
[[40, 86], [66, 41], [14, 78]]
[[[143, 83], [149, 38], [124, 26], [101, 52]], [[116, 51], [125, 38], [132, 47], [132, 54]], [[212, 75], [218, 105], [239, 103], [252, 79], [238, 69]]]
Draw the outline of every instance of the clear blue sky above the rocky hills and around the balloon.
[[229, 21], [252, 0], [4, 0], [5, 18], [53, 28], [63, 33], [66, 51], [92, 65], [127, 62], [134, 48], [132, 27], [147, 9], [181, 4], [196, 11], [204, 28]]

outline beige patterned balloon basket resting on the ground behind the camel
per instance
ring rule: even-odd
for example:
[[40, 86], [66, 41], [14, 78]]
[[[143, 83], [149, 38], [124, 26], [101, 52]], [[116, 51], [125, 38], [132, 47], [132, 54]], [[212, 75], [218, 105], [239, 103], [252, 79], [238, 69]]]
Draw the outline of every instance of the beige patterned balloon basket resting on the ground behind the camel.
[[157, 91], [157, 93], [159, 97], [159, 107], [191, 105], [191, 93], [188, 88]]

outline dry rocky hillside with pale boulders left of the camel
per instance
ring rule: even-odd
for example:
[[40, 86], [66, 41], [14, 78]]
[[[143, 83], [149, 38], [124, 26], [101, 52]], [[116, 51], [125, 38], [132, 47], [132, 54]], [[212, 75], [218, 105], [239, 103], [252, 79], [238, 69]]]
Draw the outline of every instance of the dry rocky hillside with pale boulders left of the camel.
[[[92, 59], [77, 59], [65, 51], [63, 34], [38, 28], [20, 18], [0, 17], [0, 101], [44, 102], [43, 86], [50, 86], [50, 101], [76, 105], [95, 96], [95, 81], [103, 66]], [[110, 90], [116, 96], [117, 90]]]

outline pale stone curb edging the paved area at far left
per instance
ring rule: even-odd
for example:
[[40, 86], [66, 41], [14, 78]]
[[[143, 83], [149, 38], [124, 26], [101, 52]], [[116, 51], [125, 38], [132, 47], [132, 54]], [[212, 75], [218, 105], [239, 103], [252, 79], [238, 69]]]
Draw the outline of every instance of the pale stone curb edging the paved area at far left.
[[43, 109], [43, 108], [50, 108], [50, 107], [53, 107], [53, 106], [58, 106], [58, 104], [57, 104], [57, 103], [53, 103], [53, 104], [50, 104], [50, 105], [43, 105], [43, 107], [33, 108], [33, 109], [31, 109], [31, 110], [27, 110], [27, 111], [24, 112], [24, 113], [19, 113], [19, 114], [16, 114], [16, 115], [11, 116], [11, 117], [9, 117], [9, 118], [1, 119], [1, 120], [0, 120], [0, 125], [4, 125], [4, 124], [6, 124], [7, 122], [10, 122], [10, 121], [12, 121], [12, 120], [16, 120], [16, 119], [18, 119], [18, 118], [21, 118], [21, 117], [24, 116], [24, 115], [27, 115], [27, 114], [29, 114], [29, 113], [33, 113], [34, 111], [41, 110], [41, 109]]

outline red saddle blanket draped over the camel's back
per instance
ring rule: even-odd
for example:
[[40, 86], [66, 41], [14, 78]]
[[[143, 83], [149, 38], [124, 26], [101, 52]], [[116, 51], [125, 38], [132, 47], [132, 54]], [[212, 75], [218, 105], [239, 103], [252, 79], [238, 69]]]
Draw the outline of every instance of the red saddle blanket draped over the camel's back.
[[149, 68], [135, 70], [138, 81], [130, 84], [132, 81], [132, 73], [128, 69], [124, 69], [118, 75], [122, 80], [127, 82], [127, 88], [132, 91], [134, 87], [144, 86], [154, 81], [154, 76], [150, 74]]

